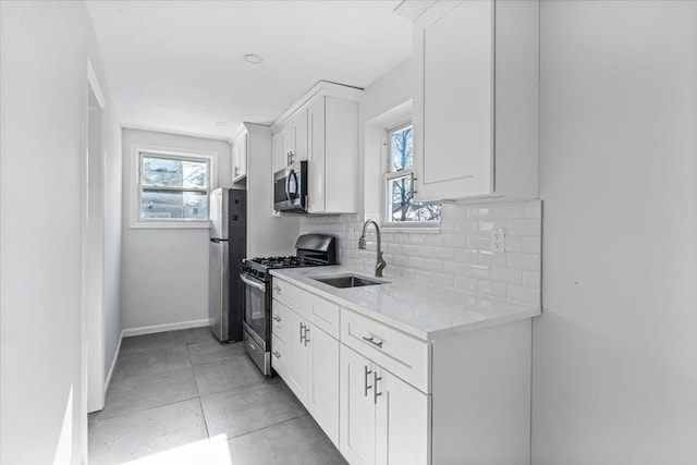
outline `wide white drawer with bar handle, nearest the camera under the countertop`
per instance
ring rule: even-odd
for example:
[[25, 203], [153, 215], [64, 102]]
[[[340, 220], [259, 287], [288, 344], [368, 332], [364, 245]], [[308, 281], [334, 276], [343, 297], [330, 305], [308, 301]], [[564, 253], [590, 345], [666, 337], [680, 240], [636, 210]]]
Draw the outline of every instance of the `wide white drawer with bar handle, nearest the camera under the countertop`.
[[345, 308], [341, 314], [342, 343], [421, 392], [430, 393], [429, 343]]

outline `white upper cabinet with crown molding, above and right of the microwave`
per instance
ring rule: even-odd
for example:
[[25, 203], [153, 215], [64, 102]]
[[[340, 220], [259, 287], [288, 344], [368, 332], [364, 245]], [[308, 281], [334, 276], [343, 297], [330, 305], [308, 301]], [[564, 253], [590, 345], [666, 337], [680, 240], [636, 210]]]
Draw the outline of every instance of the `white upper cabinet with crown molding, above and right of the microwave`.
[[362, 89], [320, 81], [271, 126], [273, 164], [307, 160], [309, 213], [358, 208], [358, 99]]

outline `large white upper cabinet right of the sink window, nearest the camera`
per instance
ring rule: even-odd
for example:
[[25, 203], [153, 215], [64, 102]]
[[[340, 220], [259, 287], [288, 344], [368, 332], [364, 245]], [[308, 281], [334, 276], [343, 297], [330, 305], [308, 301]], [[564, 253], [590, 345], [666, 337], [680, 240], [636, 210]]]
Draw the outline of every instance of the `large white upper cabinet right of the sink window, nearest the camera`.
[[416, 17], [417, 200], [538, 197], [538, 12], [438, 1]]

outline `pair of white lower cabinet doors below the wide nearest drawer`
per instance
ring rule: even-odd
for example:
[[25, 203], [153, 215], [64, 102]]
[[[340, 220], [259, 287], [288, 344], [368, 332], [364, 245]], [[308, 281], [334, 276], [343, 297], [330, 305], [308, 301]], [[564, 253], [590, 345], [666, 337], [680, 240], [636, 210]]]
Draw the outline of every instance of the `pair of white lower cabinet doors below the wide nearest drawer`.
[[430, 463], [430, 395], [341, 345], [340, 450], [352, 464]]

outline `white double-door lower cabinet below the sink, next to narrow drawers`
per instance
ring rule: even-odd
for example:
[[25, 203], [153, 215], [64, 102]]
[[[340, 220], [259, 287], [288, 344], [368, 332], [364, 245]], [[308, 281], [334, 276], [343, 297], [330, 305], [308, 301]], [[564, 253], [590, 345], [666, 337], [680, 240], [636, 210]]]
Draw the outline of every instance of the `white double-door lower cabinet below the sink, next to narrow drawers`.
[[[285, 360], [279, 359], [272, 346], [272, 366], [276, 368], [279, 362], [284, 372], [278, 368], [276, 371], [339, 446], [339, 341], [280, 302], [273, 301], [272, 305], [274, 315], [284, 316], [288, 332], [285, 343], [281, 343], [288, 356]], [[274, 336], [273, 343], [277, 339]]]

